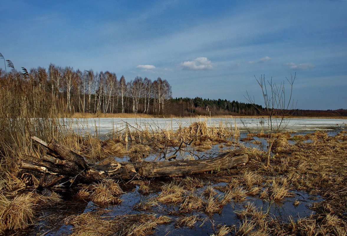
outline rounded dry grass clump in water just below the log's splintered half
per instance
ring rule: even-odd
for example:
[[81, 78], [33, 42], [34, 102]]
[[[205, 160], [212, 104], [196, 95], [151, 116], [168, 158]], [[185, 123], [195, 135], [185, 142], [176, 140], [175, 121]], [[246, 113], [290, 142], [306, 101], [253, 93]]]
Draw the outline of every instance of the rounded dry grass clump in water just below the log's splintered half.
[[114, 180], [103, 180], [92, 187], [91, 200], [101, 206], [119, 204], [122, 202], [117, 196], [124, 193]]

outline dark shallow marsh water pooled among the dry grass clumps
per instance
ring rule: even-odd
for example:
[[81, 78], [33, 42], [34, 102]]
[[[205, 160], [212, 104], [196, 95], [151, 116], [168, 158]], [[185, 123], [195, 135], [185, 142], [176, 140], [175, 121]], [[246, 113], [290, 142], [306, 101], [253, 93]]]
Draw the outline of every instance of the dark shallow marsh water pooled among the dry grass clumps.
[[[307, 134], [312, 133], [313, 131], [302, 131], [295, 134]], [[328, 132], [329, 136], [335, 136], [339, 131], [331, 130]], [[243, 133], [240, 138], [247, 137], [246, 133]], [[266, 147], [266, 140], [262, 138], [258, 138], [258, 141], [261, 142], [261, 146]], [[310, 142], [310, 140], [306, 140], [306, 142]], [[253, 147], [255, 146], [253, 143], [249, 141], [240, 142], [242, 145]], [[219, 145], [213, 145], [212, 148], [208, 151], [196, 152], [197, 155], [205, 155], [206, 157], [212, 157], [218, 155], [218, 152], [221, 150], [233, 149], [233, 147], [219, 147]], [[156, 154], [147, 157], [147, 159], [152, 160]], [[180, 158], [183, 158], [181, 156]], [[119, 161], [127, 160], [127, 157], [117, 158]], [[141, 202], [147, 202], [156, 196], [158, 196], [161, 192], [160, 187], [164, 183], [168, 183], [171, 180], [168, 179], [160, 179], [160, 180], [151, 180], [151, 185], [153, 186], [149, 193], [143, 194], [140, 191], [139, 185], [127, 186], [123, 189], [124, 194], [120, 196], [122, 199], [122, 203], [119, 205], [109, 205], [107, 207], [100, 207], [97, 204], [94, 204], [92, 201], [89, 202], [76, 202], [73, 200], [68, 200], [57, 207], [48, 208], [43, 210], [43, 215], [49, 216], [50, 220], [42, 220], [39, 221], [33, 230], [28, 232], [28, 235], [47, 235], [47, 236], [56, 236], [56, 235], [69, 235], [71, 234], [71, 230], [74, 226], [65, 224], [65, 217], [69, 215], [76, 215], [90, 211], [97, 211], [100, 209], [107, 210], [103, 214], [105, 217], [115, 216], [125, 216], [125, 215], [136, 215], [140, 213], [145, 214], [157, 214], [157, 217], [160, 215], [165, 215], [171, 218], [171, 222], [169, 224], [158, 225], [155, 229], [155, 233], [153, 235], [157, 236], [167, 236], [167, 235], [212, 235], [218, 229], [218, 225], [226, 225], [226, 226], [239, 226], [240, 220], [237, 216], [237, 212], [242, 211], [247, 207], [248, 204], [253, 204], [256, 208], [261, 209], [262, 211], [269, 211], [269, 215], [274, 220], [279, 222], [289, 222], [289, 217], [293, 220], [297, 220], [298, 218], [308, 217], [311, 214], [314, 214], [314, 211], [310, 210], [310, 206], [313, 202], [320, 202], [322, 199], [319, 195], [310, 195], [306, 192], [296, 191], [294, 189], [290, 190], [293, 193], [292, 197], [285, 198], [276, 202], [270, 202], [264, 199], [259, 198], [259, 196], [247, 196], [243, 201], [230, 201], [227, 203], [220, 212], [209, 213], [206, 214], [202, 211], [192, 211], [189, 213], [179, 212], [179, 204], [164, 204], [160, 203], [159, 206], [151, 207], [150, 210], [142, 211], [136, 210], [135, 206]], [[225, 182], [213, 182], [210, 180], [204, 180], [204, 186], [198, 187], [194, 193], [201, 194], [206, 187], [211, 185], [215, 190], [216, 198], [222, 198], [224, 193], [218, 191], [219, 187], [224, 187], [227, 185]], [[296, 206], [294, 204], [296, 201], [299, 201], [300, 204]], [[198, 216], [198, 221], [196, 222], [193, 228], [188, 227], [176, 227], [175, 220], [181, 216]], [[51, 216], [51, 217], [50, 217]]]

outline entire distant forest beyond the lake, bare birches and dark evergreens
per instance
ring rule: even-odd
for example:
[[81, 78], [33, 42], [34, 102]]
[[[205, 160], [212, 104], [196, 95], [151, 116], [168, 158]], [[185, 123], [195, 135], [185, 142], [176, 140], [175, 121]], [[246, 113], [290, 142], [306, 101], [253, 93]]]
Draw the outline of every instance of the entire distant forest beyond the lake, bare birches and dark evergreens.
[[[0, 59], [4, 59], [0, 54]], [[5, 61], [5, 59], [4, 59]], [[261, 105], [230, 101], [227, 99], [172, 98], [169, 82], [160, 77], [135, 77], [126, 81], [115, 73], [93, 70], [74, 70], [50, 64], [29, 71], [17, 71], [7, 60], [5, 70], [0, 68], [2, 89], [14, 89], [23, 99], [33, 101], [38, 107], [64, 113], [144, 113], [152, 115], [262, 115]], [[9, 71], [7, 70], [9, 69]], [[36, 94], [36, 96], [32, 96]], [[29, 96], [31, 95], [31, 96]], [[18, 106], [18, 104], [9, 104]], [[347, 110], [288, 111], [297, 116], [347, 116]], [[37, 113], [39, 116], [40, 114]]]

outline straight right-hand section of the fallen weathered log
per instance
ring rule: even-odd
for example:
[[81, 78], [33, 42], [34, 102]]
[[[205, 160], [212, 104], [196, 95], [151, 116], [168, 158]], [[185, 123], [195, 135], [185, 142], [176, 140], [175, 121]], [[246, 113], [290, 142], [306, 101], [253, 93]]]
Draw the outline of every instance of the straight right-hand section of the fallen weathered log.
[[174, 177], [229, 169], [247, 162], [245, 150], [234, 150], [206, 160], [143, 161], [138, 174], [142, 177]]

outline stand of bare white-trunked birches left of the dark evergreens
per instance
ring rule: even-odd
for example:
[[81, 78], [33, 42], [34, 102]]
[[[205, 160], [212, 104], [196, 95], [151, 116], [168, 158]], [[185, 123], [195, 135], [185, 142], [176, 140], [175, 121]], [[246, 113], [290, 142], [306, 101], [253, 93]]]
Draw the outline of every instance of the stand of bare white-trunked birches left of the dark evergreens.
[[[0, 68], [1, 87], [20, 86], [26, 91], [38, 91], [49, 99], [60, 113], [146, 113], [165, 114], [167, 101], [172, 96], [171, 86], [160, 77], [152, 81], [135, 77], [126, 81], [115, 73], [92, 69], [81, 71], [72, 67], [50, 64], [17, 71], [13, 63], [0, 53], [5, 70]], [[7, 63], [6, 63], [7, 62]], [[7, 71], [7, 67], [10, 71]]]

